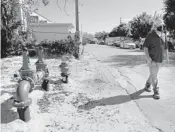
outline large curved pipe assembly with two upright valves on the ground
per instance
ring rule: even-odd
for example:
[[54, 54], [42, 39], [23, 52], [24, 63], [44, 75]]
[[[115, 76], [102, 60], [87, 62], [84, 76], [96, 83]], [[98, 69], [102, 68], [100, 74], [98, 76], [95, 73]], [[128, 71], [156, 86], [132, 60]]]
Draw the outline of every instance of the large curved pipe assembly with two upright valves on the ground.
[[[42, 51], [41, 51], [42, 52]], [[42, 56], [38, 54], [38, 61], [42, 60]], [[35, 88], [35, 84], [48, 77], [48, 69], [43, 63], [36, 63], [37, 71], [31, 70], [29, 67], [29, 56], [26, 48], [23, 50], [23, 65], [19, 70], [20, 79], [18, 81], [18, 87], [16, 89], [16, 97], [13, 102], [13, 106], [17, 107], [19, 118], [25, 122], [30, 120], [29, 106], [32, 103], [32, 99], [29, 98], [29, 93]], [[44, 81], [43, 81], [44, 82]]]

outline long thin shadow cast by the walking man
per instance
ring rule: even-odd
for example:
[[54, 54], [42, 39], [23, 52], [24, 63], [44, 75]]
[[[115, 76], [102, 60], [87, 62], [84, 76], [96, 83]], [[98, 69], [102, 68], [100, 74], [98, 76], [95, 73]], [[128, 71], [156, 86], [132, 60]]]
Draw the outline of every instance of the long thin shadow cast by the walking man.
[[137, 100], [141, 98], [152, 98], [152, 95], [140, 96], [140, 94], [142, 94], [144, 91], [145, 91], [144, 89], [141, 89], [130, 95], [119, 95], [109, 98], [103, 98], [100, 100], [90, 101], [84, 105], [80, 105], [78, 109], [91, 110], [96, 106], [117, 105], [129, 102], [131, 100]]

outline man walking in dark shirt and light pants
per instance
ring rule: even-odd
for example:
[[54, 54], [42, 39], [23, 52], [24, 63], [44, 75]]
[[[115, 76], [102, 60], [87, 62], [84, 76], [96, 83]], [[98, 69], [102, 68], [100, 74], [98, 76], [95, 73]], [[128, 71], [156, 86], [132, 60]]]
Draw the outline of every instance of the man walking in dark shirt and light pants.
[[157, 75], [164, 56], [166, 56], [166, 60], [169, 61], [166, 34], [164, 34], [165, 32], [163, 31], [163, 22], [159, 19], [154, 23], [152, 31], [148, 34], [143, 44], [150, 72], [149, 78], [146, 81], [145, 91], [151, 92], [150, 86], [152, 84], [154, 99], [160, 98], [159, 87], [157, 87]]

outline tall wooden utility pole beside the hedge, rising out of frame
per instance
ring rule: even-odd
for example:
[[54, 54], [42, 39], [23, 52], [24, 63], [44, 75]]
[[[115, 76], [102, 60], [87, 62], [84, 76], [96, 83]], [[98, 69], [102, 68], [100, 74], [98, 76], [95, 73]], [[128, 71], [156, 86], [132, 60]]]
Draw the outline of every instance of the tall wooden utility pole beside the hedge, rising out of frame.
[[75, 0], [75, 23], [76, 23], [76, 33], [75, 33], [75, 39], [77, 43], [77, 58], [79, 58], [79, 41], [80, 41], [80, 32], [79, 32], [79, 10], [78, 10], [78, 0]]

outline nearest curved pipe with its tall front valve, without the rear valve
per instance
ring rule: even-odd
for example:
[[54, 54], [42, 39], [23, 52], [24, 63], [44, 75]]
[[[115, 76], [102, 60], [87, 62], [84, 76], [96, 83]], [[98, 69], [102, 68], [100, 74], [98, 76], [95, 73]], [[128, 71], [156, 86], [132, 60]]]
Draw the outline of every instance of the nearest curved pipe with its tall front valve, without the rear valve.
[[34, 74], [29, 67], [29, 56], [26, 48], [23, 49], [23, 64], [19, 72], [21, 79], [18, 82], [16, 97], [12, 105], [17, 108], [19, 118], [27, 122], [30, 120], [29, 106], [32, 99], [29, 98], [29, 92], [34, 88]]

